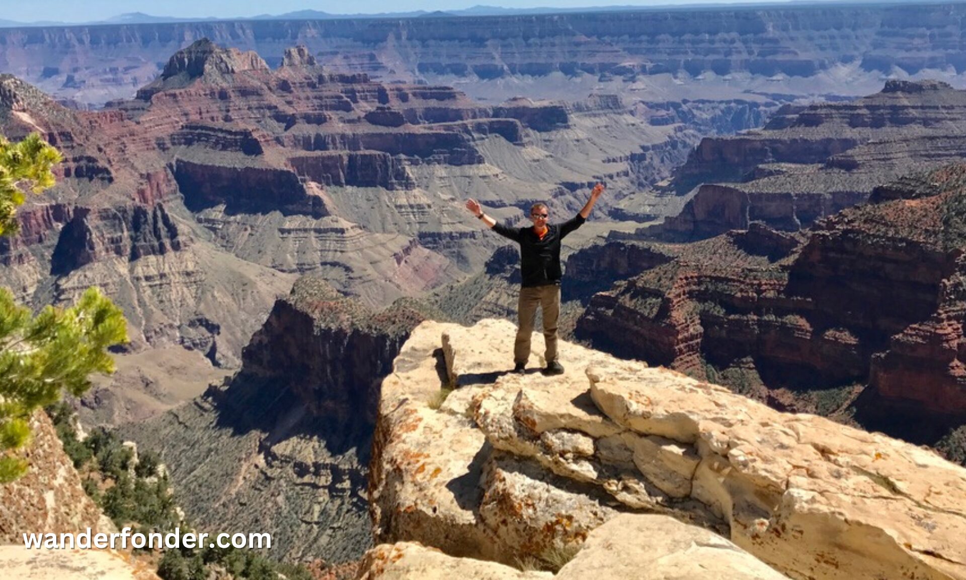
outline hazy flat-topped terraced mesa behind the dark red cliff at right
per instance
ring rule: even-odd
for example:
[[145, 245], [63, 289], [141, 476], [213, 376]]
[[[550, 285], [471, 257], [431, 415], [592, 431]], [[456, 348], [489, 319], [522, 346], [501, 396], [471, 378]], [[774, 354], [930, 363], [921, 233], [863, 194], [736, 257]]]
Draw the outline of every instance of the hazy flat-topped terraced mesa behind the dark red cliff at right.
[[905, 173], [961, 159], [964, 117], [966, 92], [933, 80], [887, 81], [852, 102], [785, 105], [760, 131], [703, 139], [671, 185], [697, 187], [693, 199], [639, 235], [700, 240], [755, 221], [798, 231]]

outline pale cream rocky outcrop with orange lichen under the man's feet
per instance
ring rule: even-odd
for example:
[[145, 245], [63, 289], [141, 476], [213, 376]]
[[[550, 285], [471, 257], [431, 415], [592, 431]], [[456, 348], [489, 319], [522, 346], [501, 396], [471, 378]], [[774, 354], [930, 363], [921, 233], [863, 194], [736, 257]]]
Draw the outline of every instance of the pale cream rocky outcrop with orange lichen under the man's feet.
[[[383, 385], [377, 541], [548, 567], [569, 550], [552, 567], [575, 578], [705, 577], [705, 554], [718, 577], [966, 577], [966, 470], [933, 452], [570, 343], [559, 377], [507, 373], [510, 333], [493, 320], [413, 331]], [[724, 535], [733, 559], [710, 549], [724, 538], [668, 516]], [[673, 556], [682, 543], [709, 550]], [[459, 569], [405, 544], [367, 562], [372, 577], [411, 577], [419, 554]]]

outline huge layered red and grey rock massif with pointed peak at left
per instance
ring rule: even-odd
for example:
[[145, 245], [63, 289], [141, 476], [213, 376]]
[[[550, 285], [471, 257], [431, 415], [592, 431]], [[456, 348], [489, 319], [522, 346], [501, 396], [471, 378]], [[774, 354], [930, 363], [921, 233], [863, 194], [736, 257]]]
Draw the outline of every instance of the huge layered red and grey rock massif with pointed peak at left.
[[87, 400], [116, 401], [97, 420], [170, 408], [203, 391], [213, 366], [238, 368], [298, 274], [375, 307], [427, 293], [497, 246], [464, 198], [501, 219], [536, 200], [572, 213], [587, 183], [630, 188], [642, 145], [682, 138], [619, 101], [483, 105], [445, 86], [324, 69], [304, 46], [282, 61], [271, 69], [201, 40], [100, 111], [0, 79], [0, 131], [40, 131], [65, 157], [58, 185], [19, 213], [21, 235], [0, 243], [0, 281], [37, 306], [98, 285], [125, 310], [132, 361], [181, 347], [187, 374], [203, 377], [169, 389], [154, 370], [122, 365], [120, 388]]

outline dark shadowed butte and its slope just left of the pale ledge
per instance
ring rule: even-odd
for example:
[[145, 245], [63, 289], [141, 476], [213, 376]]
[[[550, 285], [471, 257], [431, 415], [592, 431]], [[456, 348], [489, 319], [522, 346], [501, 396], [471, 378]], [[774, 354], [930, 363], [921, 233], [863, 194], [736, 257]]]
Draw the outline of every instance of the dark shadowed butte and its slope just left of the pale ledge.
[[300, 278], [234, 377], [123, 432], [161, 454], [201, 529], [268, 532], [278, 559], [355, 560], [371, 542], [364, 490], [380, 384], [424, 316], [406, 301], [374, 312]]

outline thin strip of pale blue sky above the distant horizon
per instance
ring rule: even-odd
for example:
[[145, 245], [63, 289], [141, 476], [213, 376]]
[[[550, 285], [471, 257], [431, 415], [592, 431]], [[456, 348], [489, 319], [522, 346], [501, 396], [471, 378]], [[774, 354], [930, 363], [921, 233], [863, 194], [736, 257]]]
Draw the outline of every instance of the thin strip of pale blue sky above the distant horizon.
[[[716, 0], [711, 0], [715, 2]], [[721, 0], [717, 0], [721, 1]], [[745, 0], [746, 2], [748, 0]], [[708, 0], [0, 0], [0, 19], [33, 22], [55, 20], [86, 22], [103, 20], [117, 14], [143, 12], [156, 16], [232, 17], [256, 14], [284, 14], [298, 10], [318, 10], [332, 14], [407, 12], [415, 10], [464, 9], [477, 4], [505, 8], [580, 8], [592, 6], [652, 6], [710, 3]]]

